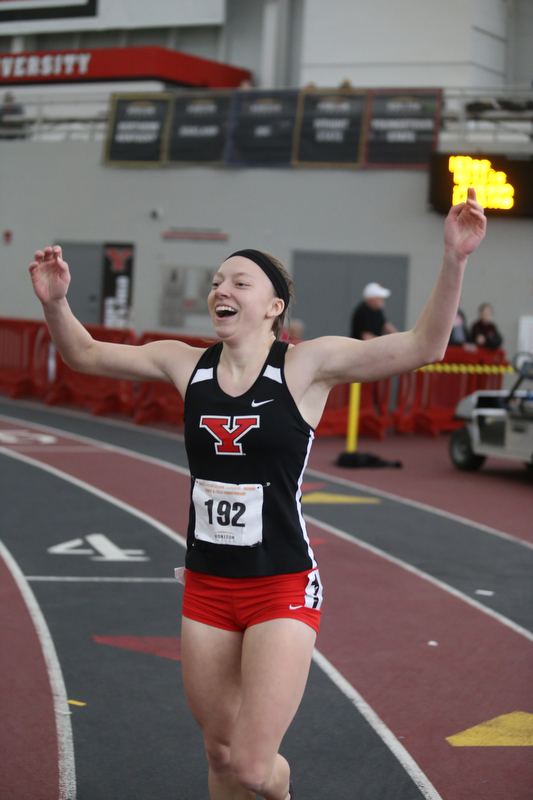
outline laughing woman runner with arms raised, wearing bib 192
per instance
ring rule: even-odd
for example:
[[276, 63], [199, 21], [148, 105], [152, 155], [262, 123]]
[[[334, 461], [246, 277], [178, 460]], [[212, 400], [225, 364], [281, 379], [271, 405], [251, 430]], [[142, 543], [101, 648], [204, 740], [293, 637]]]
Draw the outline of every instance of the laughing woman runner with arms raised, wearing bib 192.
[[276, 259], [239, 251], [208, 299], [220, 343], [142, 347], [92, 339], [69, 309], [61, 248], [30, 273], [54, 343], [75, 370], [168, 381], [185, 399], [191, 469], [182, 625], [183, 680], [202, 728], [211, 800], [293, 798], [278, 753], [304, 691], [322, 586], [300, 506], [313, 429], [338, 383], [375, 381], [439, 361], [468, 255], [485, 234], [473, 189], [445, 223], [444, 258], [413, 330], [369, 341], [279, 341], [291, 281]]

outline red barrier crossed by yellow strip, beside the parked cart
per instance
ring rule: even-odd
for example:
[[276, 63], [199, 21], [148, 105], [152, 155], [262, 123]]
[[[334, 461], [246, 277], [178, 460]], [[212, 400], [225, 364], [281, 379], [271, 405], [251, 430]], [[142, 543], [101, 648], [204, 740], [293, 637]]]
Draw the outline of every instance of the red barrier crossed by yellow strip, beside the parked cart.
[[[479, 348], [469, 352], [448, 347], [444, 364], [504, 365], [504, 350]], [[502, 375], [469, 372], [410, 372], [400, 376], [393, 423], [399, 433], [424, 433], [438, 436], [464, 423], [454, 420], [455, 407], [462, 397], [479, 389], [499, 389]]]

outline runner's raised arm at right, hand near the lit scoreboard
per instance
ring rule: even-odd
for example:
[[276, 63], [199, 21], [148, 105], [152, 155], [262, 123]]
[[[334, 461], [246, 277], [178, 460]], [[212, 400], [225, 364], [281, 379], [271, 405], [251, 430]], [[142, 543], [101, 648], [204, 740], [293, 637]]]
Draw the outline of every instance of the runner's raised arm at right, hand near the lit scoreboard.
[[469, 189], [466, 203], [452, 206], [446, 218], [442, 267], [413, 330], [364, 342], [340, 336], [303, 342], [290, 358], [307, 372], [309, 385], [374, 381], [440, 361], [459, 306], [467, 258], [483, 239], [485, 228], [483, 209], [474, 189]]

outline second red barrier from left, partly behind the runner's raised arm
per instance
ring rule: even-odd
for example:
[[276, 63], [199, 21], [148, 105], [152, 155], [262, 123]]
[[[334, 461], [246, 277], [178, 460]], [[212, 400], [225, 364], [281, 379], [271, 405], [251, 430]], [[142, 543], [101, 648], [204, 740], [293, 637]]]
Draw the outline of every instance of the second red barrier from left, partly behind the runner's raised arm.
[[[93, 339], [114, 344], [135, 344], [135, 332], [128, 329], [104, 328], [102, 325], [85, 325]], [[45, 403], [74, 403], [91, 409], [93, 414], [119, 412], [133, 414], [135, 409], [135, 384], [96, 375], [84, 375], [67, 367], [56, 354], [56, 374], [46, 395]]]

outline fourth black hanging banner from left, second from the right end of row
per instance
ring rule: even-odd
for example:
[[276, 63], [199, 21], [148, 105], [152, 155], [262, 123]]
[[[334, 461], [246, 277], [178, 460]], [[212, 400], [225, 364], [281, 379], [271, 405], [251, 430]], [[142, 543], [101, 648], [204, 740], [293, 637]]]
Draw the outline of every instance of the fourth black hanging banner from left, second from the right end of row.
[[366, 92], [346, 89], [301, 93], [294, 147], [300, 166], [358, 166]]

